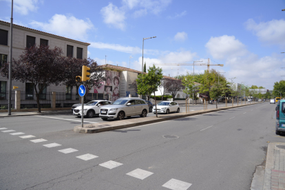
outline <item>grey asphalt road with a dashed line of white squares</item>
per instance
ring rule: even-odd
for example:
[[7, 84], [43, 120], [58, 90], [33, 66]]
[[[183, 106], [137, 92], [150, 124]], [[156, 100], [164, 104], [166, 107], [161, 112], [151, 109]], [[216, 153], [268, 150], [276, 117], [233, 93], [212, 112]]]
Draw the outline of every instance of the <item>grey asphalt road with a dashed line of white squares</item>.
[[261, 103], [98, 134], [74, 133], [72, 120], [0, 118], [0, 189], [249, 189], [268, 141], [285, 142], [274, 117]]

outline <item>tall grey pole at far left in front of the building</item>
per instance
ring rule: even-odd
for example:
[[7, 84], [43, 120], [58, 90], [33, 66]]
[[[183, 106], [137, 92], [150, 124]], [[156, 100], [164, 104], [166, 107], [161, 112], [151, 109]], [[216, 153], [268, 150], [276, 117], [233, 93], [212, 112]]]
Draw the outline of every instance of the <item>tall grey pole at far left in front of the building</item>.
[[11, 8], [10, 22], [10, 63], [9, 63], [9, 92], [8, 92], [8, 115], [11, 115], [11, 95], [12, 95], [12, 37], [13, 37], [13, 0]]

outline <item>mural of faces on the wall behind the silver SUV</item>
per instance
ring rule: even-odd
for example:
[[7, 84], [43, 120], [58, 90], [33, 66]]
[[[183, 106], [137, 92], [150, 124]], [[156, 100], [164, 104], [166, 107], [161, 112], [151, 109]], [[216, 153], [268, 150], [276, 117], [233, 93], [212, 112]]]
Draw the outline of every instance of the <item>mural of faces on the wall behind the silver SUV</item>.
[[119, 85], [120, 85], [120, 72], [115, 71], [105, 71], [105, 99], [108, 99], [109, 94], [111, 95], [111, 101], [116, 101], [119, 95]]

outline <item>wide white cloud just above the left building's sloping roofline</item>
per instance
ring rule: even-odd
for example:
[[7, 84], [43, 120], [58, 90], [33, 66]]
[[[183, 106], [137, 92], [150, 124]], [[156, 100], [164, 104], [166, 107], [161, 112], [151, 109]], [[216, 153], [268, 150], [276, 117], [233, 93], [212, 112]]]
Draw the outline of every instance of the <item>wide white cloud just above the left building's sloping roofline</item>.
[[30, 25], [34, 28], [41, 28], [41, 30], [45, 32], [81, 40], [86, 40], [87, 31], [94, 28], [94, 25], [89, 19], [84, 21], [82, 19], [76, 19], [73, 16], [67, 17], [63, 14], [54, 14], [48, 23], [32, 21]]

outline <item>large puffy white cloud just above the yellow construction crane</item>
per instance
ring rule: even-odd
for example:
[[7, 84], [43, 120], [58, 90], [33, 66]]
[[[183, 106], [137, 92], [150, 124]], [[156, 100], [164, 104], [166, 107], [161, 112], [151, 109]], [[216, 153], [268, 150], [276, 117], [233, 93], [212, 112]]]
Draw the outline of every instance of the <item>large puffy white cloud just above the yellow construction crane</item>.
[[213, 56], [213, 59], [225, 59], [235, 56], [244, 56], [247, 53], [246, 46], [235, 36], [211, 37], [205, 47]]

